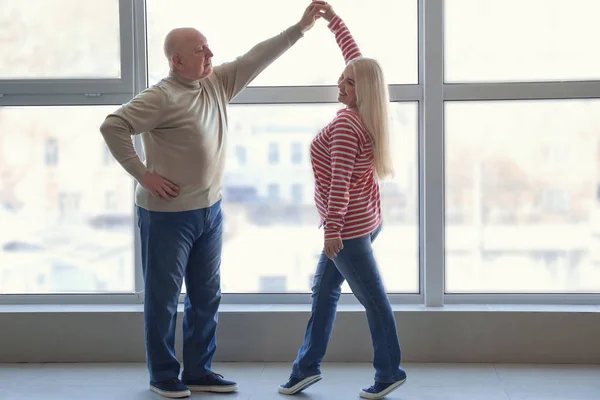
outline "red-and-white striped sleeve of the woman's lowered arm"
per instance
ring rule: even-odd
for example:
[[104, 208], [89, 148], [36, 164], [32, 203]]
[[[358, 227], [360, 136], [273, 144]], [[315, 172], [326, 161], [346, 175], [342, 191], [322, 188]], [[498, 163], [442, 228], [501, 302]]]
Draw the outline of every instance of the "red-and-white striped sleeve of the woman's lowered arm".
[[350, 178], [359, 151], [356, 122], [340, 115], [331, 129], [331, 188], [325, 220], [325, 239], [341, 237], [350, 202]]

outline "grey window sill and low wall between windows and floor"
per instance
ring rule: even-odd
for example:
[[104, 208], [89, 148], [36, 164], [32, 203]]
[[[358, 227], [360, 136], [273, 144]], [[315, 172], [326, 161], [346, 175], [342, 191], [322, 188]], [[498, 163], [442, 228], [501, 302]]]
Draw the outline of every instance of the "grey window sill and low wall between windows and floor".
[[[597, 305], [392, 306], [412, 362], [598, 363]], [[177, 345], [181, 354], [181, 313]], [[218, 361], [289, 362], [302, 343], [308, 304], [223, 304]], [[0, 305], [0, 362], [144, 362], [141, 304]], [[369, 362], [360, 305], [342, 304], [328, 360]], [[240, 329], [243, 335], [240, 335]]]

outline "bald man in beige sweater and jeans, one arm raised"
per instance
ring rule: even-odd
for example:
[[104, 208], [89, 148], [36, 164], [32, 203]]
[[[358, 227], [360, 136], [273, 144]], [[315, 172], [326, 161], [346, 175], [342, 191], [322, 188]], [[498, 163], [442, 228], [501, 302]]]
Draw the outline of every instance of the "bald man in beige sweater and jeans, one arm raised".
[[[211, 370], [221, 299], [226, 108], [312, 28], [324, 4], [311, 3], [297, 24], [214, 69], [206, 37], [191, 28], [171, 31], [164, 46], [169, 76], [110, 114], [100, 128], [115, 159], [139, 182], [146, 357], [150, 390], [162, 396], [237, 390]], [[133, 148], [135, 134], [142, 134], [145, 165]], [[174, 347], [184, 278], [180, 380]]]

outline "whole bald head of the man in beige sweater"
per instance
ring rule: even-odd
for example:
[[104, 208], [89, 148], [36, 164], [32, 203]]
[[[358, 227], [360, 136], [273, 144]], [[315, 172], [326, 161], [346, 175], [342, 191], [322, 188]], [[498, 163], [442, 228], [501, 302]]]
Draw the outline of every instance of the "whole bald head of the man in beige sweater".
[[176, 28], [165, 37], [164, 53], [171, 71], [190, 79], [202, 79], [212, 72], [212, 52], [206, 37], [194, 28]]

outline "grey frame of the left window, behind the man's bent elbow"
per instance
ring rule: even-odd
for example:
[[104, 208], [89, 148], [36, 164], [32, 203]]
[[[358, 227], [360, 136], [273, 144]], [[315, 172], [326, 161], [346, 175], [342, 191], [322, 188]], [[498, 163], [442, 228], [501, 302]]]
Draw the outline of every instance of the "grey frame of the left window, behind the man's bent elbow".
[[[144, 0], [119, 0], [120, 79], [2, 79], [0, 80], [0, 107], [113, 105], [116, 109], [120, 104], [128, 102], [145, 87], [143, 61], [146, 57], [145, 46], [140, 47], [140, 44], [145, 43], [144, 13]], [[139, 151], [140, 148], [138, 138], [136, 149]], [[134, 192], [132, 192], [132, 199], [133, 196]], [[133, 204], [132, 211], [135, 212]], [[0, 294], [0, 304], [142, 304], [143, 278], [139, 232], [137, 226], [132, 228], [135, 232], [133, 260], [135, 290], [133, 292]]]

